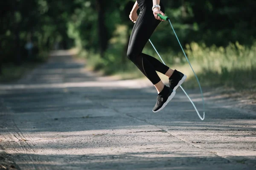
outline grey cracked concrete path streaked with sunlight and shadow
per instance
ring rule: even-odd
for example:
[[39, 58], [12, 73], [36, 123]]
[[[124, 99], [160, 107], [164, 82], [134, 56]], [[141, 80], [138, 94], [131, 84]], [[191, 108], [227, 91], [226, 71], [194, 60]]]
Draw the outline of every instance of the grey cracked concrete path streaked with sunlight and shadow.
[[[198, 94], [188, 92], [202, 113]], [[95, 77], [66, 53], [52, 57], [18, 84], [0, 85], [0, 165], [11, 161], [20, 170], [256, 169], [255, 112], [207, 101], [201, 121], [180, 89], [163, 111], [151, 111], [155, 102], [148, 80]]]

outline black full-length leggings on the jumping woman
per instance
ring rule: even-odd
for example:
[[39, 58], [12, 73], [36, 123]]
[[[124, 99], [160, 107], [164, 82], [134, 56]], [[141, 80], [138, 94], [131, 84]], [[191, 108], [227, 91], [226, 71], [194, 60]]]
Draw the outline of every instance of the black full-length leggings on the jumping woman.
[[[155, 85], [161, 80], [156, 71], [166, 74], [169, 67], [156, 58], [143, 54], [142, 51], [145, 44], [148, 42], [148, 39], [161, 21], [156, 20], [154, 17], [152, 0], [137, 0], [137, 2], [140, 7], [140, 14], [131, 32], [127, 57], [140, 69], [153, 85]], [[160, 6], [161, 11], [164, 12], [161, 3]]]

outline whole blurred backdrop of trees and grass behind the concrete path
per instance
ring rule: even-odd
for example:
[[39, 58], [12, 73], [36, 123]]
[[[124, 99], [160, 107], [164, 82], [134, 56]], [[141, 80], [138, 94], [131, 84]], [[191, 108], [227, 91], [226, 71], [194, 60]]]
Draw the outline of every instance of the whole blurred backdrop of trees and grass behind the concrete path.
[[[202, 85], [256, 89], [256, 1], [161, 1]], [[126, 57], [134, 2], [1, 1], [0, 80], [19, 77], [50, 50], [70, 48], [94, 70], [124, 79], [143, 76]], [[169, 66], [191, 76], [187, 86], [196, 85], [169, 22], [158, 26], [151, 41]], [[144, 52], [158, 57], [149, 43]]]

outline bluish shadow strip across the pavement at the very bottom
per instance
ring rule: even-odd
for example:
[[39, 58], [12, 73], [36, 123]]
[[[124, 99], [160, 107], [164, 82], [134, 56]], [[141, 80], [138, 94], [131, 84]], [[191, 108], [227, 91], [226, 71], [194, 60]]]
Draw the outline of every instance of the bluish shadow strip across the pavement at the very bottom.
[[[14, 155], [15, 157], [34, 157], [35, 155]], [[46, 169], [140, 169], [140, 170], [249, 170], [244, 168], [243, 164], [246, 158], [237, 157], [237, 162], [231, 164], [227, 157], [223, 161], [220, 157], [201, 157], [187, 153], [169, 153], [169, 152], [142, 152], [125, 154], [85, 154], [85, 155], [36, 155], [42, 162], [37, 164], [27, 164], [26, 167], [45, 167]], [[128, 160], [128, 161], [127, 161]], [[253, 159], [256, 161], [255, 159]], [[250, 162], [249, 162], [250, 163]], [[218, 165], [217, 165], [218, 164]], [[253, 165], [251, 168], [254, 168]], [[28, 168], [29, 170], [30, 168]], [[32, 169], [32, 168], [31, 168]]]

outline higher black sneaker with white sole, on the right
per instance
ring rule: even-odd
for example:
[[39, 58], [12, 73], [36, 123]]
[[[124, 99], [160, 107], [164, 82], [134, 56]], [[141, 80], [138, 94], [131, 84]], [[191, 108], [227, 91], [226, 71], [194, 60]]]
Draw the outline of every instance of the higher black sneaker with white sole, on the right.
[[186, 80], [186, 75], [180, 73], [180, 71], [175, 70], [172, 76], [169, 78], [169, 87], [176, 91], [176, 89]]

